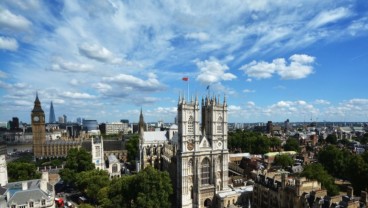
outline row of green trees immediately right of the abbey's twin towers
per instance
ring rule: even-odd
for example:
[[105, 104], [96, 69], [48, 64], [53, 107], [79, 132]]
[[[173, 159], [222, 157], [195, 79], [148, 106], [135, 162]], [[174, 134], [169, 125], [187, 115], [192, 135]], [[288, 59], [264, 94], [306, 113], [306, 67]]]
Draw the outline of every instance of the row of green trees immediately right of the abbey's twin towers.
[[299, 142], [295, 138], [290, 138], [285, 145], [281, 146], [281, 141], [278, 138], [263, 135], [260, 132], [252, 132], [246, 130], [237, 130], [229, 132], [229, 149], [236, 151], [241, 149], [242, 152], [251, 154], [264, 154], [270, 151], [279, 151], [283, 148], [286, 151], [299, 151]]

